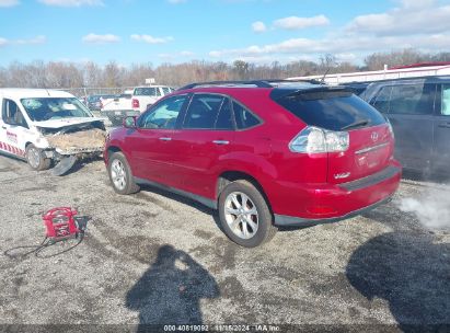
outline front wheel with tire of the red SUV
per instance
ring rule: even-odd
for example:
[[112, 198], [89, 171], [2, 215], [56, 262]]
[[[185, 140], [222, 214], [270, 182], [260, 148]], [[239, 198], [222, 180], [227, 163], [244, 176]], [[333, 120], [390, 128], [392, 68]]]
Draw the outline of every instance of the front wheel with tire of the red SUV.
[[126, 195], [139, 191], [132, 177], [131, 168], [122, 152], [114, 152], [109, 157], [107, 173], [116, 193]]

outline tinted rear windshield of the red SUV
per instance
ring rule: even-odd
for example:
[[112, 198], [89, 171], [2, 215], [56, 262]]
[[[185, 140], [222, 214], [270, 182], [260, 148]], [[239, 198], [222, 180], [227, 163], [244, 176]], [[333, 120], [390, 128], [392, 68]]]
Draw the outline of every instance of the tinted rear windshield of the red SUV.
[[346, 130], [385, 123], [384, 117], [349, 91], [311, 91], [276, 99], [310, 126]]

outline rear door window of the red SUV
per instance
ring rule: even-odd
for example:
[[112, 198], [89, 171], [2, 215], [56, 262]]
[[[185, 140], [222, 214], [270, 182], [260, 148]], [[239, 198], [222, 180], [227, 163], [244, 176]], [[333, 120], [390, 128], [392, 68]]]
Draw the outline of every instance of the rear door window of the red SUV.
[[[187, 107], [184, 128], [232, 129], [229, 100], [221, 95], [195, 94]], [[230, 126], [231, 125], [231, 126]]]

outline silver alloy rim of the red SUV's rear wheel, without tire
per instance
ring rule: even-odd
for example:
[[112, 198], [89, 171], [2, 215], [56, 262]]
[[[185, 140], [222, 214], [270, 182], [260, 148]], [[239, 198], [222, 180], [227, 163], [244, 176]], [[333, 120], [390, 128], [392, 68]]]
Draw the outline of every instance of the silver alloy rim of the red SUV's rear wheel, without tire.
[[251, 239], [259, 226], [258, 213], [252, 199], [242, 192], [230, 193], [224, 203], [224, 217], [231, 231], [241, 239]]

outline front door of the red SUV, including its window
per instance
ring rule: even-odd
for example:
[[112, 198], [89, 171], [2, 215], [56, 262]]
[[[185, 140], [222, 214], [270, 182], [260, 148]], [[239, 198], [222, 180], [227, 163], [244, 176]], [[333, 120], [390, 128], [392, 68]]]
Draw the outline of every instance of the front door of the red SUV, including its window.
[[173, 173], [173, 134], [187, 95], [165, 99], [137, 122], [137, 129], [127, 136], [132, 174], [169, 186], [177, 186], [178, 177]]

